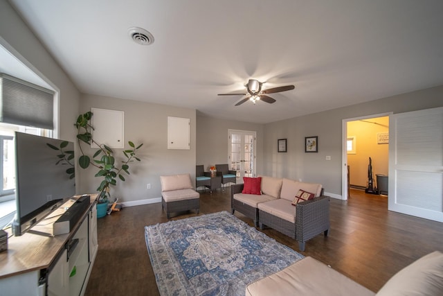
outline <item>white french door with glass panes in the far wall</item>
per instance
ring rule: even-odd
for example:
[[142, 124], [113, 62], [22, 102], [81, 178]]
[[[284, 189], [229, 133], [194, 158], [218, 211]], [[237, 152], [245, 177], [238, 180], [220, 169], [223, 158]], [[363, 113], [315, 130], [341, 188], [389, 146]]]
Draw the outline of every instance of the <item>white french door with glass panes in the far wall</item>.
[[243, 177], [255, 177], [256, 132], [228, 130], [228, 161], [230, 170], [237, 171], [237, 183]]

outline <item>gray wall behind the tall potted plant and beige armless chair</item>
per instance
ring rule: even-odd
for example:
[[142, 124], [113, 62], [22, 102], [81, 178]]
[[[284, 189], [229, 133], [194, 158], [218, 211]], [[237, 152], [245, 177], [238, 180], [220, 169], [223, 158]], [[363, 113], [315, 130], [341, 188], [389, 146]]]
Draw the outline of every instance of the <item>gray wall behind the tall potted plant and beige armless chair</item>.
[[[125, 148], [129, 148], [127, 141], [133, 141], [136, 145], [143, 143], [143, 147], [138, 153], [141, 162], [129, 165], [131, 175], [125, 178], [125, 182], [118, 180], [117, 186], [112, 187], [112, 198], [117, 197], [120, 202], [129, 202], [129, 204], [161, 198], [160, 175], [190, 173], [193, 182], [195, 182], [195, 110], [120, 98], [82, 95], [80, 112], [90, 111], [91, 107], [124, 111]], [[168, 149], [168, 116], [191, 119], [190, 150]], [[93, 153], [95, 151], [96, 149], [93, 149]], [[121, 149], [118, 151], [116, 157], [121, 155]], [[93, 177], [97, 171], [91, 167], [87, 170], [82, 168], [79, 170], [81, 170], [79, 172], [81, 174], [81, 192], [96, 192], [101, 182], [100, 178]], [[151, 184], [151, 189], [147, 189], [147, 183]]]

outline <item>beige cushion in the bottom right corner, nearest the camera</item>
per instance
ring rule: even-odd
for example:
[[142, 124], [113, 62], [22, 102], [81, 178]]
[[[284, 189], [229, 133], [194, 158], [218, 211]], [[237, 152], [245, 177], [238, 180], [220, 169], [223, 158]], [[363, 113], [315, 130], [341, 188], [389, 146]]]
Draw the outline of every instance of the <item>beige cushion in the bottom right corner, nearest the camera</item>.
[[406, 266], [377, 293], [377, 296], [400, 295], [443, 295], [443, 253], [435, 251]]

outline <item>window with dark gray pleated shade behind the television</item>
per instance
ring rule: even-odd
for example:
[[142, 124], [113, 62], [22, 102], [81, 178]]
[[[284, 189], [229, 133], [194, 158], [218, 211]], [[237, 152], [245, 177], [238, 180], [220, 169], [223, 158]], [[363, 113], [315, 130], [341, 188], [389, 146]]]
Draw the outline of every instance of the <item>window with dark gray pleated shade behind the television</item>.
[[54, 94], [50, 89], [0, 73], [0, 229], [15, 210], [15, 132], [53, 136]]

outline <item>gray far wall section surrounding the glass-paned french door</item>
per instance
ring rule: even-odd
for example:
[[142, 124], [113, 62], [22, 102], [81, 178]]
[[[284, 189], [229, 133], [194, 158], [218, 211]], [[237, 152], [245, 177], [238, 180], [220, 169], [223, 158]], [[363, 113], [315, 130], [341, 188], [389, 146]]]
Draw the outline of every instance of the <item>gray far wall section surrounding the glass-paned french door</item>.
[[[197, 116], [197, 162], [205, 171], [215, 164], [228, 163], [228, 130], [248, 130], [257, 134], [257, 174], [263, 168], [264, 125], [242, 121], [226, 121], [207, 116]], [[194, 168], [195, 171], [195, 168]]]

